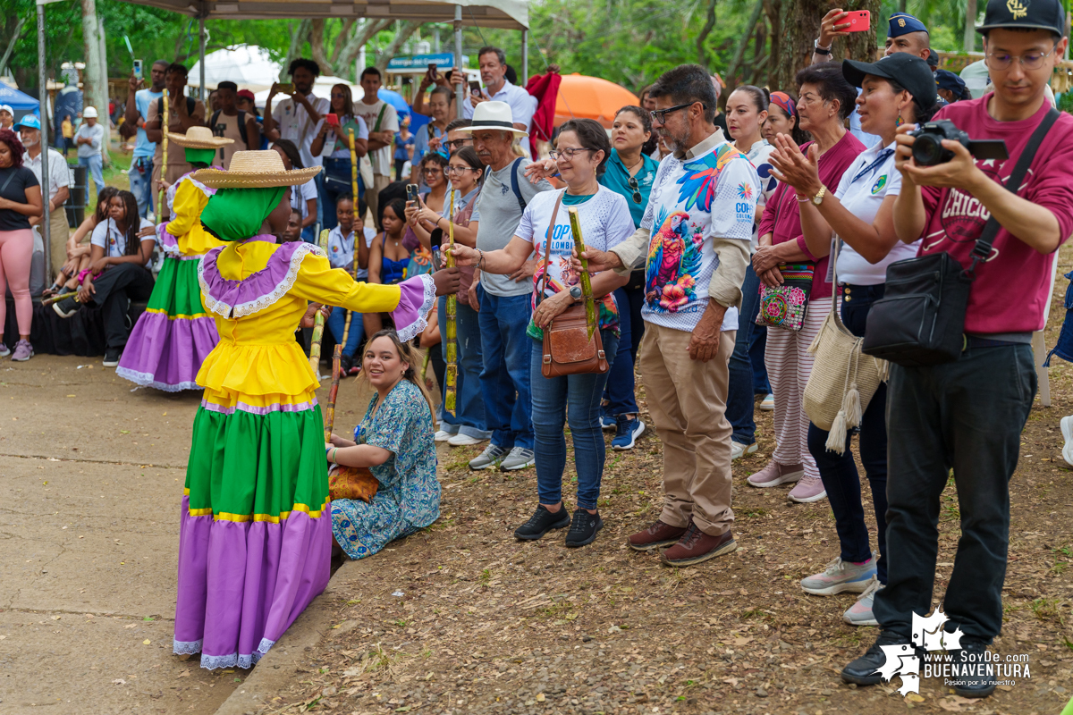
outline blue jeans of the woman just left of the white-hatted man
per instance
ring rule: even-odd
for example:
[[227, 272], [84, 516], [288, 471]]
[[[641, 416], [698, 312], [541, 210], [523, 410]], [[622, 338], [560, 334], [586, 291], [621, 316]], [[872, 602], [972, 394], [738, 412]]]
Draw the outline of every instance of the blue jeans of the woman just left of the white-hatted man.
[[[440, 296], [436, 311], [440, 322], [443, 359], [447, 359], [447, 297]], [[461, 300], [455, 307], [455, 342], [458, 345], [458, 384], [455, 386], [455, 414], [443, 411], [441, 427], [450, 434], [462, 434], [474, 440], [487, 440], [491, 432], [485, 429], [484, 400], [481, 397], [481, 326], [480, 313]], [[444, 386], [446, 394], [446, 386]]]

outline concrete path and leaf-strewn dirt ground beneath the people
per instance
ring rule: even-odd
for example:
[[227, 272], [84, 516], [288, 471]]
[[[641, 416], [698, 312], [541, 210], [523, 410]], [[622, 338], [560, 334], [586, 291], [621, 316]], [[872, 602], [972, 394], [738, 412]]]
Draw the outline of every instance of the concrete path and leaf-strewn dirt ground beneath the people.
[[[1048, 345], [1064, 281], [1056, 293]], [[797, 585], [838, 554], [834, 521], [825, 501], [795, 505], [785, 489], [745, 485], [774, 448], [770, 416], [758, 412], [760, 451], [734, 466], [739, 549], [685, 569], [624, 546], [659, 511], [651, 434], [608, 451], [606, 525], [578, 550], [561, 532], [512, 537], [534, 505], [532, 470], [469, 472], [476, 449], [441, 446], [441, 519], [343, 567], [354, 585], [318, 606], [334, 627], [289, 685], [258, 694], [258, 713], [1057, 713], [1073, 695], [1073, 470], [1058, 427], [1073, 413], [1073, 367], [1056, 359], [1050, 378], [1054, 406], [1032, 411], [1011, 482], [996, 642], [1028, 654], [1031, 677], [987, 700], [959, 700], [935, 679], [908, 701], [841, 684], [838, 669], [876, 629], [842, 623], [852, 595]], [[131, 387], [100, 358], [0, 363], [0, 713], [210, 713], [249, 675], [171, 654], [197, 397]], [[341, 388], [337, 431], [364, 407], [357, 388]], [[958, 538], [953, 487], [943, 500], [935, 605]]]

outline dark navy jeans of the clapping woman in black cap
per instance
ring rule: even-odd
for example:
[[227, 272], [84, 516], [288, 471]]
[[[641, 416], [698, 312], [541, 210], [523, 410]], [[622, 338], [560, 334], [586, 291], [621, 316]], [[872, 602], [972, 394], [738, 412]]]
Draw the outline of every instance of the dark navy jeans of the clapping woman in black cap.
[[[865, 334], [865, 322], [873, 302], [883, 297], [886, 284], [851, 285], [839, 301], [842, 323], [854, 336]], [[877, 578], [886, 584], [886, 383], [880, 383], [871, 402], [861, 418], [861, 465], [865, 467], [868, 485], [871, 487], [872, 508], [876, 512], [876, 542], [879, 546], [879, 561], [876, 563]], [[861, 503], [861, 476], [853, 463], [853, 452], [849, 450], [851, 432], [846, 433], [847, 449], [827, 451], [826, 430], [815, 424], [808, 426], [808, 450], [820, 470], [827, 501], [835, 515], [835, 531], [841, 546], [842, 561], [859, 564], [871, 558], [868, 545], [868, 526], [865, 525], [865, 510]]]

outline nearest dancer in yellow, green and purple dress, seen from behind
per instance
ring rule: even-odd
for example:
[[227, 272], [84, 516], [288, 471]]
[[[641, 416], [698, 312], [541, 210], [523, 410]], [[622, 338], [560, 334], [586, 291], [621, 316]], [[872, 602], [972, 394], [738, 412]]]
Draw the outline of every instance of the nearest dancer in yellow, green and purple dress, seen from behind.
[[283, 635], [329, 576], [324, 421], [317, 376], [294, 340], [308, 301], [391, 313], [399, 338], [426, 325], [458, 270], [398, 285], [355, 283], [305, 242], [276, 243], [291, 213], [286, 187], [320, 167], [288, 172], [275, 151], [239, 151], [227, 172], [194, 179], [217, 190], [202, 225], [226, 240], [199, 280], [220, 342], [202, 363], [179, 527], [174, 651], [203, 668], [249, 668]]

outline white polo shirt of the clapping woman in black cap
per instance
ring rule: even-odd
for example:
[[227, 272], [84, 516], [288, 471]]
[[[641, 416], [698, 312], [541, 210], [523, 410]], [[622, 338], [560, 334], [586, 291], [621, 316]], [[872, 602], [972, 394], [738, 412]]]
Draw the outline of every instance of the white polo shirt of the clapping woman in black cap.
[[[897, 196], [901, 191], [901, 173], [894, 166], [894, 148], [881, 144], [865, 149], [853, 160], [842, 174], [835, 196], [847, 210], [865, 223], [871, 223], [879, 213], [879, 207], [887, 196]], [[884, 158], [880, 160], [880, 154]], [[868, 263], [849, 243], [842, 243], [838, 254], [838, 282], [842, 285], [879, 285], [886, 282], [886, 267], [895, 260], [912, 258], [921, 242], [898, 241], [891, 253], [878, 264]]]

